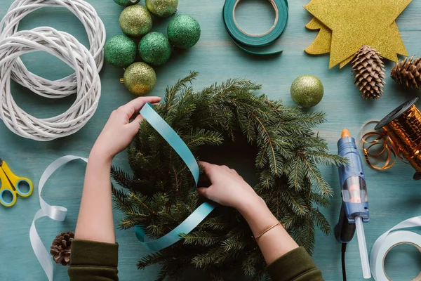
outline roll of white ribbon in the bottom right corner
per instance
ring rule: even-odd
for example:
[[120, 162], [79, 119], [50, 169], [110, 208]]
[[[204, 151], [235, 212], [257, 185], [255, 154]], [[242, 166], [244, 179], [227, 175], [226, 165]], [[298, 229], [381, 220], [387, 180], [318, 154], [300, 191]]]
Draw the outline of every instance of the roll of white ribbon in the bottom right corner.
[[[421, 251], [421, 235], [413, 233], [405, 228], [414, 228], [421, 226], [421, 216], [409, 218], [402, 221], [393, 228], [387, 230], [374, 243], [370, 253], [370, 268], [371, 273], [376, 281], [391, 280], [385, 272], [385, 258], [389, 251], [399, 244], [413, 244]], [[421, 273], [413, 281], [420, 281]]]

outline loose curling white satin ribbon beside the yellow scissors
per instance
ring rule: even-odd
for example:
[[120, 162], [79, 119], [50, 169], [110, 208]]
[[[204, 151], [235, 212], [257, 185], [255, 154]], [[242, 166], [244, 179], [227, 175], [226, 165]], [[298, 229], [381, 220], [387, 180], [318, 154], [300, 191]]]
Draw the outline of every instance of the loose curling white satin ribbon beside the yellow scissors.
[[46, 181], [48, 181], [48, 178], [50, 178], [50, 176], [58, 168], [76, 159], [81, 159], [84, 162], [88, 163], [88, 159], [83, 157], [77, 157], [72, 155], [61, 157], [55, 160], [53, 163], [50, 164], [50, 166], [47, 167], [47, 169], [42, 174], [41, 179], [39, 180], [38, 195], [41, 209], [39, 209], [39, 211], [37, 211], [34, 216], [31, 229], [29, 230], [29, 239], [31, 240], [32, 249], [34, 249], [36, 259], [38, 259], [39, 263], [44, 269], [44, 272], [46, 273], [49, 281], [53, 281], [53, 261], [50, 253], [42, 243], [41, 238], [39, 237], [38, 232], [36, 231], [35, 222], [36, 220], [44, 216], [48, 216], [48, 218], [51, 218], [54, 221], [64, 221], [66, 218], [67, 209], [61, 206], [51, 206], [42, 199], [41, 192], [42, 188], [44, 188], [44, 184], [46, 183]]

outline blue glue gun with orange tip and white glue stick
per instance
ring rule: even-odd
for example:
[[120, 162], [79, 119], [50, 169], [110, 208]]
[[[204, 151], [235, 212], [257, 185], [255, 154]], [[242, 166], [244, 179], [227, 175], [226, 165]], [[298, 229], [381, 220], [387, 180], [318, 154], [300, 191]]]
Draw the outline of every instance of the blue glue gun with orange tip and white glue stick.
[[[368, 223], [370, 220], [366, 179], [364, 177], [363, 162], [356, 148], [355, 139], [352, 138], [347, 129], [342, 131], [342, 136], [338, 141], [338, 154], [345, 157], [348, 160], [348, 164], [339, 166], [342, 207], [340, 209], [339, 222], [335, 226], [335, 237], [338, 242], [347, 244], [354, 237], [356, 230], [363, 276], [368, 279], [371, 277], [371, 274], [363, 228], [363, 223]], [[343, 249], [344, 247], [342, 247], [342, 251]]]

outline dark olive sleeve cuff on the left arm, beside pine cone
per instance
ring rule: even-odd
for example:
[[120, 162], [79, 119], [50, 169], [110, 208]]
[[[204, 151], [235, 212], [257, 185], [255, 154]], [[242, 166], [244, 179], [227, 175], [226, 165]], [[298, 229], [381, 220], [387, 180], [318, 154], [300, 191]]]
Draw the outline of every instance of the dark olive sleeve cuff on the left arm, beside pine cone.
[[118, 281], [119, 244], [73, 240], [70, 281]]

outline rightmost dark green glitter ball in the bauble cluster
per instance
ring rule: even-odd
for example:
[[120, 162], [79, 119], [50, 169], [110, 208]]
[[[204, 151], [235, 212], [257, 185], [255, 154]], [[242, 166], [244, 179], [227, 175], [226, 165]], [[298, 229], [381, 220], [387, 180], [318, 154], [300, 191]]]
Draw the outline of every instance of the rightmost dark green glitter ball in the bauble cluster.
[[200, 25], [189, 15], [178, 15], [168, 24], [168, 39], [178, 48], [190, 48], [200, 39]]

